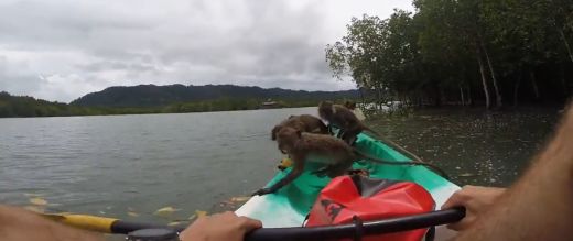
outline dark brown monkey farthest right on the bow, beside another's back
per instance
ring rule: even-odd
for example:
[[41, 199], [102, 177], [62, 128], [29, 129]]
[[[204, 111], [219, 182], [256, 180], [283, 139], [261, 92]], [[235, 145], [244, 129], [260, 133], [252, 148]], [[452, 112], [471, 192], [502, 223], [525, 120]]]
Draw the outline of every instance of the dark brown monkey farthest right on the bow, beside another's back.
[[346, 143], [353, 144], [356, 136], [363, 131], [370, 131], [380, 136], [376, 131], [366, 127], [348, 108], [342, 105], [335, 105], [331, 101], [323, 101], [318, 105], [318, 116], [329, 125], [339, 128], [338, 136]]

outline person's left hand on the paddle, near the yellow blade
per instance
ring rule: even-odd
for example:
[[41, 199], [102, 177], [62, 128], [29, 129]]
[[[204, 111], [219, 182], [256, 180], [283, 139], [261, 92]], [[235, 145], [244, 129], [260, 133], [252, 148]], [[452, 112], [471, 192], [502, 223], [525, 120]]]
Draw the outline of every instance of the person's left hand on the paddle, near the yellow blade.
[[201, 217], [180, 234], [182, 241], [241, 241], [248, 232], [262, 228], [262, 222], [237, 217], [231, 211]]

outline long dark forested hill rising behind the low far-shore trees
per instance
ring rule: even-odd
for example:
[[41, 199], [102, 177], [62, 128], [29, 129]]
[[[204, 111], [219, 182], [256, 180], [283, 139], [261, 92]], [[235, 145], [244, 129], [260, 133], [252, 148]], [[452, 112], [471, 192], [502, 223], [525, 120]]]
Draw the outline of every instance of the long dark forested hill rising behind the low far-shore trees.
[[88, 94], [72, 105], [85, 107], [156, 107], [176, 102], [192, 102], [216, 99], [267, 99], [282, 101], [320, 101], [328, 99], [357, 98], [357, 90], [346, 91], [304, 91], [280, 88], [263, 89], [234, 85], [206, 86], [155, 86], [140, 85], [131, 87], [109, 87], [105, 90]]

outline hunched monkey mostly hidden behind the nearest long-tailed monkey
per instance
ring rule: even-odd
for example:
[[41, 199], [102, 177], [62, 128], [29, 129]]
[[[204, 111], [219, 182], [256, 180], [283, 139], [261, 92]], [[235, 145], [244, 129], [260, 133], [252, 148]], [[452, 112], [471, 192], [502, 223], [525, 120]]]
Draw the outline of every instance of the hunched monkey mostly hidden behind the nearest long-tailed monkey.
[[271, 131], [271, 140], [277, 140], [277, 133], [281, 128], [291, 127], [301, 132], [328, 134], [328, 128], [320, 118], [311, 114], [290, 116], [289, 119], [283, 120], [280, 124], [274, 125]]

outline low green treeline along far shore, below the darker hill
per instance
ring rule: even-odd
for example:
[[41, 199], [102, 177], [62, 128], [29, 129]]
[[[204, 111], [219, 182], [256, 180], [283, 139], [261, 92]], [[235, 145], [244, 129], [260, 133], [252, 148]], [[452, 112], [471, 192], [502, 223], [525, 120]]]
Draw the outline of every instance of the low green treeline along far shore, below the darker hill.
[[[274, 107], [310, 107], [316, 100], [279, 100]], [[33, 97], [11, 96], [0, 92], [0, 118], [6, 117], [68, 117], [68, 116], [106, 116], [140, 113], [184, 113], [226, 110], [253, 110], [261, 107], [256, 99], [220, 98], [193, 102], [174, 102], [154, 107], [83, 107], [61, 102], [51, 102]]]

